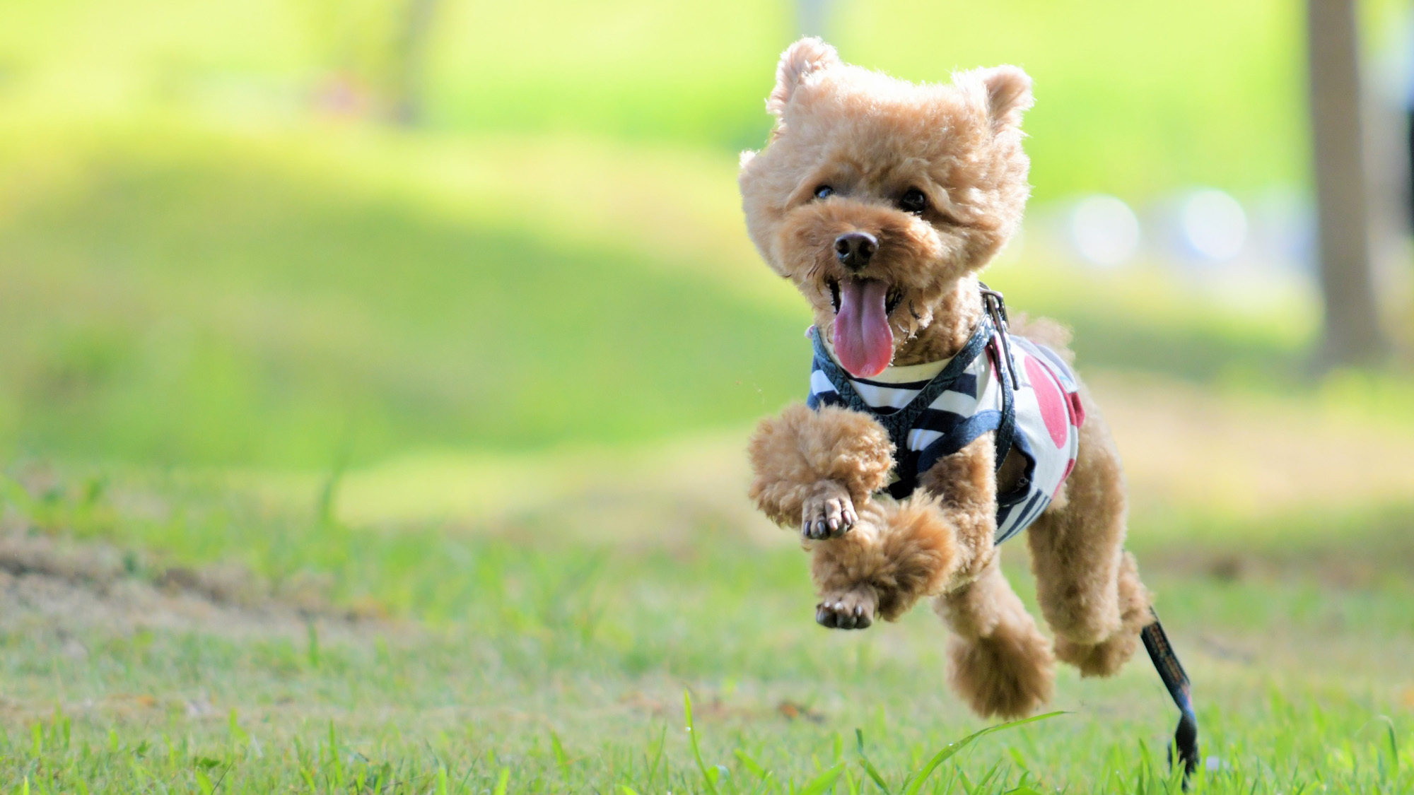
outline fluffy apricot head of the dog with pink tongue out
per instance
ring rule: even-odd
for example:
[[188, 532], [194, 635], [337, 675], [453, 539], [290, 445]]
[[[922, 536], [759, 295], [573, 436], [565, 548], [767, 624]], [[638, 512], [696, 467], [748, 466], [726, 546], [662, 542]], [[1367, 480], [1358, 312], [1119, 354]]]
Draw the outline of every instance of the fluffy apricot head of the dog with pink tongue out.
[[913, 85], [843, 64], [819, 38], [781, 55], [776, 126], [741, 158], [747, 228], [851, 373], [888, 366], [1017, 229], [1028, 108], [1015, 66]]

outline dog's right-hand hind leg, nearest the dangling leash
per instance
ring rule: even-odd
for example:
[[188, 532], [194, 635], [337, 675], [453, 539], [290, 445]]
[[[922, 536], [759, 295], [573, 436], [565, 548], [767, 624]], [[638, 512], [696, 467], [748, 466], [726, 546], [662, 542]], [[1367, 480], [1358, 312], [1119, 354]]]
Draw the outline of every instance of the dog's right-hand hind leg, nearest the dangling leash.
[[1086, 390], [1080, 451], [1065, 497], [1027, 530], [1036, 600], [1056, 656], [1085, 676], [1114, 673], [1134, 655], [1150, 593], [1124, 552], [1124, 472], [1110, 430]]

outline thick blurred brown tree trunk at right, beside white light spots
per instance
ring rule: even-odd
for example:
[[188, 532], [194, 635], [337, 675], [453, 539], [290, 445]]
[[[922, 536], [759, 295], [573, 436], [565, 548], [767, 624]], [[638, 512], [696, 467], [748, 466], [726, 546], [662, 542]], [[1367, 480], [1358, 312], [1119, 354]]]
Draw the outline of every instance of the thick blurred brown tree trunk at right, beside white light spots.
[[1321, 362], [1374, 364], [1387, 347], [1370, 260], [1355, 0], [1307, 0], [1307, 55], [1325, 297]]

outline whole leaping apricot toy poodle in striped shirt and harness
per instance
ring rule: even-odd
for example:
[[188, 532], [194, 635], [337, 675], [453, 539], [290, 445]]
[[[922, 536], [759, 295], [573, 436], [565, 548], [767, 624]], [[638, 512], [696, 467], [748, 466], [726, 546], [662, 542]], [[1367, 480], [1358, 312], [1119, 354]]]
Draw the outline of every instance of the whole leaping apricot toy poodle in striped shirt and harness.
[[[1027, 204], [1031, 103], [1015, 66], [913, 85], [803, 38], [776, 69], [768, 146], [741, 160], [751, 239], [814, 311], [809, 400], [752, 436], [751, 498], [800, 528], [824, 627], [930, 597], [949, 679], [983, 716], [1046, 702], [1055, 658], [1114, 673], [1154, 621], [1068, 332], [1008, 330], [977, 280]], [[1001, 573], [997, 545], [1024, 529], [1053, 644]]]

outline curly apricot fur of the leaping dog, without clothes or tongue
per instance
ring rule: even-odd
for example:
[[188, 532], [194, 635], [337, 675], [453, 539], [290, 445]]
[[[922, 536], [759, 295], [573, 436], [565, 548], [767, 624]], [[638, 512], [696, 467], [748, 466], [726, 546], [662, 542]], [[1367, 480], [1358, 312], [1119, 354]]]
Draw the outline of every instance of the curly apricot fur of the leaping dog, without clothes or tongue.
[[[775, 129], [762, 151], [741, 157], [742, 208], [762, 257], [806, 298], [826, 338], [839, 283], [877, 279], [896, 296], [887, 310], [894, 365], [957, 354], [983, 311], [977, 273], [1018, 228], [1031, 190], [1021, 149], [1031, 103], [1031, 78], [1015, 66], [915, 85], [844, 64], [817, 38], [782, 54], [766, 100]], [[819, 185], [831, 191], [817, 197]], [[901, 209], [905, 190], [921, 191], [926, 207]], [[878, 240], [854, 272], [833, 250], [846, 232]], [[1069, 332], [1053, 321], [1018, 313], [1012, 331], [1073, 358]], [[1133, 656], [1150, 621], [1150, 594], [1123, 552], [1120, 458], [1083, 388], [1080, 400], [1087, 419], [1075, 470], [1028, 529], [1053, 644], [1001, 573], [993, 545], [998, 478], [1010, 487], [1022, 463], [1008, 455], [998, 470], [990, 433], [922, 472], [918, 491], [894, 502], [872, 498], [894, 465], [877, 422], [789, 406], [751, 439], [751, 498], [782, 525], [805, 515], [823, 518], [819, 528], [857, 515], [843, 536], [806, 542], [824, 600], [817, 620], [863, 628], [875, 611], [894, 620], [937, 597], [935, 610], [953, 631], [953, 687], [980, 714], [1021, 716], [1051, 697], [1056, 658], [1086, 676], [1110, 675]]]

